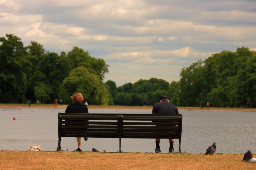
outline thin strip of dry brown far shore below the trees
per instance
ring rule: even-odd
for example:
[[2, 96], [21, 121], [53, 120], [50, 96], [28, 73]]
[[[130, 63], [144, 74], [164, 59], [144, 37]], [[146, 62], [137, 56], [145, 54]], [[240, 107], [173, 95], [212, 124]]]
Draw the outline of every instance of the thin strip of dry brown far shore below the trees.
[[[58, 104], [57, 108], [66, 108], [68, 104]], [[0, 103], [0, 108], [29, 108], [28, 104]], [[31, 104], [30, 108], [55, 108], [55, 104]], [[153, 106], [117, 106], [117, 105], [89, 105], [88, 109], [143, 109], [151, 110]], [[256, 108], [231, 108], [231, 107], [210, 107], [210, 109], [200, 109], [200, 107], [177, 107], [178, 110], [187, 111], [256, 111]]]

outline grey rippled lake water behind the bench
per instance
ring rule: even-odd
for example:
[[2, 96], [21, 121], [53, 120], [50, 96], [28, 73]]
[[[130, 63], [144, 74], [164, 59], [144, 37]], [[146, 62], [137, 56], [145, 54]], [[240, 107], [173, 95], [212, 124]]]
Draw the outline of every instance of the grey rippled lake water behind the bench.
[[[65, 109], [0, 108], [0, 150], [26, 151], [28, 146], [41, 145], [44, 151], [56, 151], [58, 146], [58, 112]], [[151, 113], [142, 109], [90, 109], [90, 113]], [[256, 112], [244, 111], [187, 111], [180, 110], [182, 120], [181, 150], [187, 153], [205, 153], [208, 146], [217, 143], [216, 153], [256, 153]], [[12, 120], [16, 117], [16, 120]], [[122, 139], [123, 152], [155, 152], [154, 139]], [[76, 138], [63, 137], [62, 150], [74, 151]], [[89, 138], [82, 150], [92, 148], [106, 152], [119, 151], [119, 139]], [[160, 142], [162, 153], [169, 151], [169, 141]], [[174, 140], [178, 151], [178, 140]]]

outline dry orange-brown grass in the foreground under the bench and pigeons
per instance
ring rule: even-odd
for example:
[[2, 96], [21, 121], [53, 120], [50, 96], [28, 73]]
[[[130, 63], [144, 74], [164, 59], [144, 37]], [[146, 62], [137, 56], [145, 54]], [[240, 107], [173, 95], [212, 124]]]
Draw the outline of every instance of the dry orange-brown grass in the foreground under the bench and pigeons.
[[256, 169], [256, 164], [243, 162], [242, 158], [243, 154], [0, 151], [0, 169]]

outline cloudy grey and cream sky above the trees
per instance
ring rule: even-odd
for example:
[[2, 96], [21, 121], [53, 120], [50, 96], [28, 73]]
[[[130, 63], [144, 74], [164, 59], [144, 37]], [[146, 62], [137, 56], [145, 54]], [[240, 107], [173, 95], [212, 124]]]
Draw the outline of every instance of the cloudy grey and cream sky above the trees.
[[103, 58], [105, 80], [180, 79], [212, 53], [256, 50], [255, 0], [0, 0], [0, 37]]

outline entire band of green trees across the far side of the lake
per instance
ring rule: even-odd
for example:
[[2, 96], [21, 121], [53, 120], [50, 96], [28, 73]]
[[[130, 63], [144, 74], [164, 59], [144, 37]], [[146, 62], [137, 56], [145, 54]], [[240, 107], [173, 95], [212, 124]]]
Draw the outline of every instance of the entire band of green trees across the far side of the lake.
[[112, 80], [103, 83], [108, 67], [79, 47], [58, 55], [35, 41], [24, 47], [20, 38], [6, 34], [0, 38], [0, 103], [57, 98], [69, 104], [70, 96], [81, 92], [89, 104], [99, 105], [153, 105], [164, 94], [177, 106], [208, 101], [215, 107], [255, 107], [256, 53], [246, 47], [198, 60], [171, 83], [150, 78], [117, 87]]

